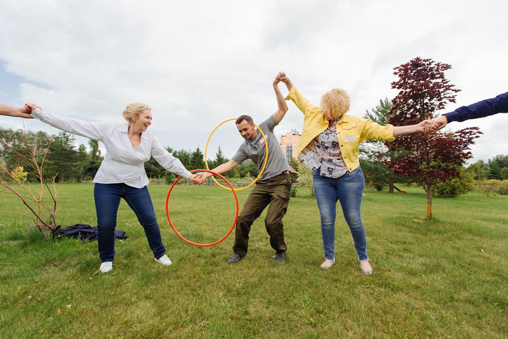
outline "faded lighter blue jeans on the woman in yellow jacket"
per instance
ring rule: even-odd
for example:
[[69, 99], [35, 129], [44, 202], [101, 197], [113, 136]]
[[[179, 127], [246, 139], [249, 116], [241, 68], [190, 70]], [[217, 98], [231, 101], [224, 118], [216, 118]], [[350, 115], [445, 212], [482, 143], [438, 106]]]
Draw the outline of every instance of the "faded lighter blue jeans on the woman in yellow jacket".
[[367, 239], [363, 227], [360, 206], [362, 204], [365, 178], [360, 167], [346, 172], [336, 179], [321, 176], [321, 168], [314, 171], [314, 191], [321, 215], [321, 233], [325, 259], [335, 260], [335, 209], [337, 199], [350, 227], [359, 260], [368, 260]]

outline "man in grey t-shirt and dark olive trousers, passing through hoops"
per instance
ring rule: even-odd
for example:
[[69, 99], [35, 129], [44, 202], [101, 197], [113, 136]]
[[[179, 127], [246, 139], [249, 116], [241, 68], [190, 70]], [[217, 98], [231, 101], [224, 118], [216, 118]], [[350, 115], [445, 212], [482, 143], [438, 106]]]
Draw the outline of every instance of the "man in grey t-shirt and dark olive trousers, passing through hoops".
[[[265, 218], [266, 231], [270, 235], [270, 245], [275, 250], [274, 261], [284, 261], [287, 245], [284, 241], [282, 218], [288, 209], [291, 191], [291, 179], [289, 166], [273, 129], [279, 124], [288, 111], [284, 98], [277, 84], [280, 80], [275, 78], [273, 88], [277, 98], [278, 110], [259, 127], [266, 136], [268, 142], [268, 161], [261, 178], [256, 182], [256, 187], [250, 192], [242, 211], [236, 222], [235, 244], [233, 255], [228, 263], [238, 263], [247, 254], [250, 226], [269, 205]], [[261, 133], [254, 127], [254, 121], [248, 115], [242, 115], [236, 120], [236, 127], [245, 142], [240, 145], [233, 159], [212, 169], [216, 173], [225, 173], [232, 170], [247, 159], [252, 160], [261, 170], [265, 162], [265, 140]], [[212, 176], [211, 173], [200, 173], [203, 179]]]

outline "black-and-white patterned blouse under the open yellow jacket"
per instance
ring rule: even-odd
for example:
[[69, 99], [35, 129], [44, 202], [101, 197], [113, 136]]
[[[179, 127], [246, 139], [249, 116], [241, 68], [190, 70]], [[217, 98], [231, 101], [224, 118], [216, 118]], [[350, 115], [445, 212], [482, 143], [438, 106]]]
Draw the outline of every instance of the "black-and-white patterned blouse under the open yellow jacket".
[[337, 121], [316, 136], [300, 153], [300, 160], [312, 172], [321, 166], [320, 175], [338, 178], [346, 174], [347, 167], [342, 160], [337, 140]]

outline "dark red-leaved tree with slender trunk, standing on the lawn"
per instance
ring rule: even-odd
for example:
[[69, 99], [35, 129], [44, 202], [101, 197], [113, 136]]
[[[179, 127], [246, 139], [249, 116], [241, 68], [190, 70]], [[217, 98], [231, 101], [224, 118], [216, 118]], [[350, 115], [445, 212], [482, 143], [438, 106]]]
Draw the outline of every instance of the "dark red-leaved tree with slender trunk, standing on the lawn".
[[[454, 88], [455, 85], [444, 77], [444, 71], [450, 68], [448, 64], [419, 57], [396, 67], [394, 74], [399, 79], [392, 82], [392, 88], [398, 89], [399, 93], [392, 100], [390, 124], [418, 124], [434, 117], [435, 111], [443, 109], [447, 103], [455, 103], [460, 89]], [[472, 127], [455, 133], [441, 130], [430, 135], [405, 135], [385, 143], [389, 150], [404, 150], [387, 161], [387, 165], [397, 175], [415, 177], [423, 187], [427, 193], [426, 219], [432, 219], [432, 195], [436, 184], [459, 177], [457, 168], [471, 158], [469, 145], [480, 134], [478, 127]]]

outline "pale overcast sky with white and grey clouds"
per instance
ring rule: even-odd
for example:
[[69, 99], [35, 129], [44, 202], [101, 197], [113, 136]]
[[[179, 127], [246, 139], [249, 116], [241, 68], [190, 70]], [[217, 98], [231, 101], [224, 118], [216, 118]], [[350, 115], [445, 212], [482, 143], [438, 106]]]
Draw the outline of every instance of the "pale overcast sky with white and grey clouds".
[[[165, 145], [204, 150], [225, 119], [258, 124], [276, 110], [271, 86], [285, 71], [313, 103], [341, 87], [363, 116], [397, 93], [393, 68], [420, 56], [452, 65], [463, 105], [508, 90], [508, 2], [498, 1], [8, 1], [0, 0], [0, 102], [90, 121], [123, 121], [134, 101], [152, 106], [150, 131]], [[282, 93], [287, 89], [280, 85]], [[293, 103], [275, 134], [301, 131]], [[40, 121], [0, 117], [2, 128], [51, 134]], [[478, 126], [473, 161], [508, 154], [508, 115]], [[232, 157], [234, 122], [212, 137]], [[78, 143], [88, 140], [78, 137]], [[101, 144], [101, 146], [103, 146]]]

